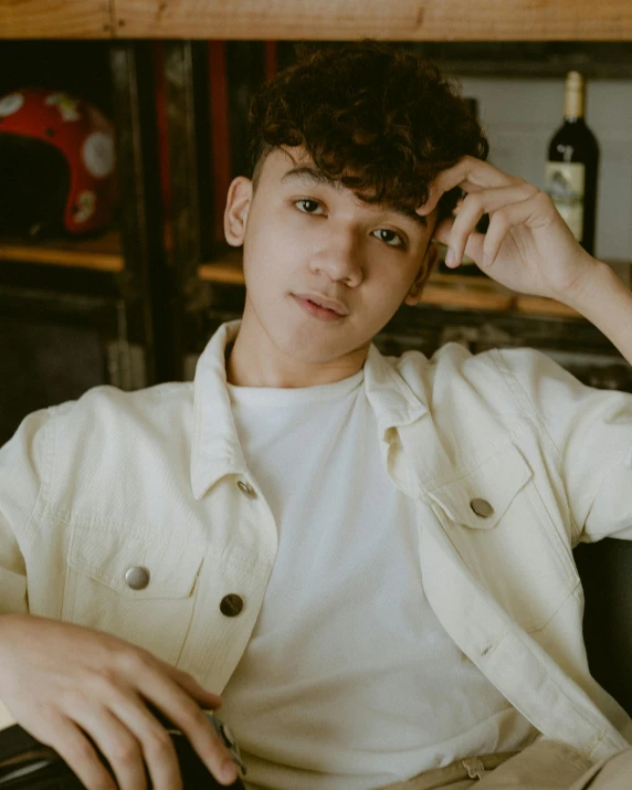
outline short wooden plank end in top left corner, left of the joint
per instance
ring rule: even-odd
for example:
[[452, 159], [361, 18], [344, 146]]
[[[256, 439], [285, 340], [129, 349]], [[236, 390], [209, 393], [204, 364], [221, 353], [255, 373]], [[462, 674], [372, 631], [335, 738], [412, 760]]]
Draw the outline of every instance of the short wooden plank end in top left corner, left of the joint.
[[110, 0], [0, 0], [0, 39], [109, 39]]

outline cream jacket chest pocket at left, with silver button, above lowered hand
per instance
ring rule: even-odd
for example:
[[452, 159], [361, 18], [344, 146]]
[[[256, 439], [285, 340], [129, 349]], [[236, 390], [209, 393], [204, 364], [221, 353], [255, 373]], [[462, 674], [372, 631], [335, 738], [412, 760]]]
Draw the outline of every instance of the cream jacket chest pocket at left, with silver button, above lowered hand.
[[62, 619], [107, 631], [176, 665], [202, 559], [202, 548], [186, 545], [186, 537], [165, 541], [123, 526], [75, 525]]

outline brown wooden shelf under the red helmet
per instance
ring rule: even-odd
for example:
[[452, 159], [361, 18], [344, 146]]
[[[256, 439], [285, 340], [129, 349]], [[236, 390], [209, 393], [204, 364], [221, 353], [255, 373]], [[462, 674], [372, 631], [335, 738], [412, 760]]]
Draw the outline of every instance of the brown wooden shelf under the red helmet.
[[125, 268], [120, 236], [116, 231], [109, 231], [98, 239], [60, 239], [40, 244], [0, 239], [0, 261], [77, 266], [98, 272], [123, 272]]

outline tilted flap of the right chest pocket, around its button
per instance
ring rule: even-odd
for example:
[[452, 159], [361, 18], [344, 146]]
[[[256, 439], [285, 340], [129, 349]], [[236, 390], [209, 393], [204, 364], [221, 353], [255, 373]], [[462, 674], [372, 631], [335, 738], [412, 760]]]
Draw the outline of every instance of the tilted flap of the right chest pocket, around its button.
[[[508, 444], [474, 471], [428, 495], [453, 522], [473, 529], [493, 529], [533, 474], [520, 451], [514, 444]], [[491, 505], [493, 513], [488, 516], [477, 515], [472, 507], [475, 499], [483, 499]]]

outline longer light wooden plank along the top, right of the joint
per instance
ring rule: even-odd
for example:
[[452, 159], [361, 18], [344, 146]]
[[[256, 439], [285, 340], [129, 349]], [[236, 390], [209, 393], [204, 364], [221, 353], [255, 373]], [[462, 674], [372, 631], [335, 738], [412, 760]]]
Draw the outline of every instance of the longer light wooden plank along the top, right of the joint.
[[630, 0], [112, 0], [135, 39], [629, 41]]

